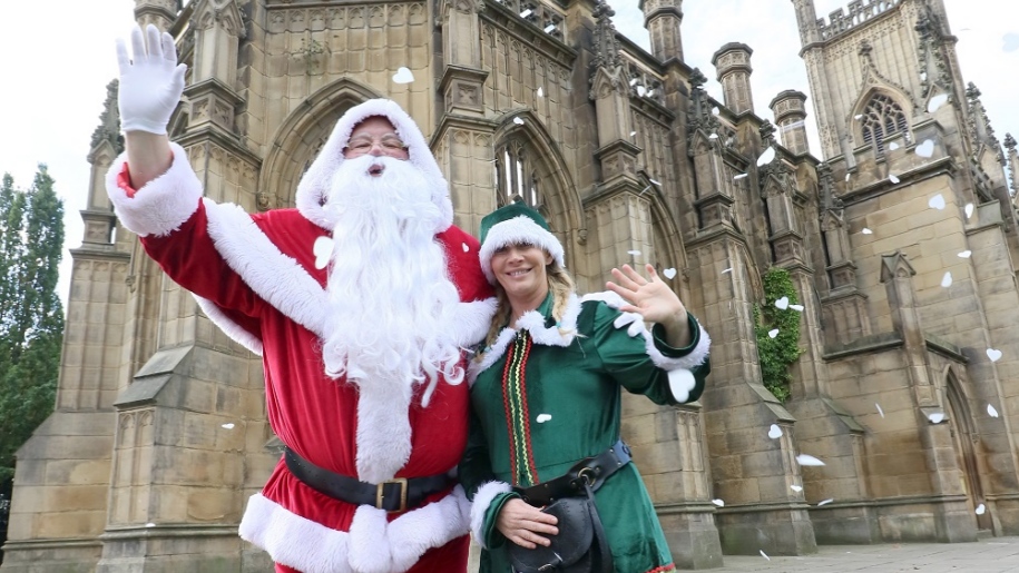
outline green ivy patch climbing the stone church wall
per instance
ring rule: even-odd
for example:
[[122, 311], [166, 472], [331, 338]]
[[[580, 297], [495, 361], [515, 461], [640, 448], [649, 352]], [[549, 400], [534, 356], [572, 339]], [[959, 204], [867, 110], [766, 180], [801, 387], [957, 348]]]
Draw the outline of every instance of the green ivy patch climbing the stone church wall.
[[[754, 333], [757, 336], [757, 356], [764, 387], [783, 404], [790, 399], [793, 376], [790, 365], [800, 358], [800, 314], [792, 308], [778, 308], [775, 300], [788, 297], [790, 305], [798, 305], [796, 289], [784, 268], [772, 267], [764, 274], [763, 307], [754, 305]], [[772, 338], [768, 332], [777, 329]]]

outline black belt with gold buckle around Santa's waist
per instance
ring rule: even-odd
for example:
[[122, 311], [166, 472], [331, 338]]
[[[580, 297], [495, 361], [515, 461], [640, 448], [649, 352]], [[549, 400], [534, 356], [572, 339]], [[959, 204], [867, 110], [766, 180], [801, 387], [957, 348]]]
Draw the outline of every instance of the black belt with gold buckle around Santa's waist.
[[428, 477], [396, 477], [370, 484], [316, 466], [286, 447], [283, 454], [286, 467], [294, 477], [319, 493], [354, 505], [372, 505], [388, 512], [402, 512], [421, 505], [429, 495], [449, 485], [447, 474]]

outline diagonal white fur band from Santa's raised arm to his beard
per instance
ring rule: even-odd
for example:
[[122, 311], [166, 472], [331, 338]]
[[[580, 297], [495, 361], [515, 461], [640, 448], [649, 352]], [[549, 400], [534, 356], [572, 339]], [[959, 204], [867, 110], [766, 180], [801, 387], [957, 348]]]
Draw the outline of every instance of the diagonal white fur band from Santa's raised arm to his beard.
[[268, 304], [324, 337], [322, 309], [329, 305], [319, 281], [281, 253], [241, 207], [206, 200], [205, 210], [209, 237], [226, 264]]

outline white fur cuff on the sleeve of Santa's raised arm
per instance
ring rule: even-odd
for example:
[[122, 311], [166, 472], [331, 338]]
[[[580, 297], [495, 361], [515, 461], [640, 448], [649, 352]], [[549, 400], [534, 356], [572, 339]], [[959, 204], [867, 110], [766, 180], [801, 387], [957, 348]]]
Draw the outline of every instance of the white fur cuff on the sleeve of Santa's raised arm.
[[114, 204], [120, 224], [139, 237], [164, 237], [180, 228], [198, 209], [202, 182], [187, 162], [187, 154], [177, 144], [169, 169], [128, 197], [117, 185], [117, 177], [127, 162], [127, 152], [120, 154], [106, 174], [106, 192]]

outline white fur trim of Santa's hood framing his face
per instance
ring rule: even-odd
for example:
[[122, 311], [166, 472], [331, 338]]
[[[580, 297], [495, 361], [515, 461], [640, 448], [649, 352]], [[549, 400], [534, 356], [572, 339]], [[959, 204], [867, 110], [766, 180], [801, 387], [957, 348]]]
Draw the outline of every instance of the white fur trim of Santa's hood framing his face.
[[335, 227], [333, 216], [323, 208], [324, 199], [332, 186], [333, 174], [343, 164], [343, 148], [346, 147], [351, 132], [353, 132], [357, 124], [372, 116], [382, 116], [389, 119], [393, 127], [396, 128], [396, 135], [406, 145], [411, 165], [424, 172], [430, 179], [442, 184], [441, 191], [433, 189], [432, 201], [442, 213], [439, 228], [435, 229], [435, 233], [445, 230], [453, 224], [453, 205], [449, 197], [449, 184], [442, 176], [442, 170], [439, 169], [439, 164], [435, 161], [428, 141], [424, 140], [421, 129], [395, 101], [388, 99], [371, 99], [354, 106], [336, 121], [329, 140], [322, 146], [319, 157], [315, 158], [297, 185], [297, 210], [312, 223], [326, 230], [332, 230]]

